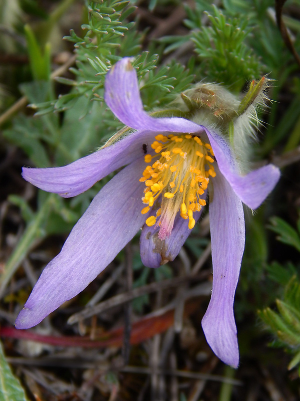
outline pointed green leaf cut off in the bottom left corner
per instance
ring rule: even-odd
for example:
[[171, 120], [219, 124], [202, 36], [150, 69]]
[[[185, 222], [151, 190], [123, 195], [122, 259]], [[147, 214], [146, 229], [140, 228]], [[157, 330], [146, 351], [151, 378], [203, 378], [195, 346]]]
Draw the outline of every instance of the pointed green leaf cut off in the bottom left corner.
[[0, 401], [27, 401], [19, 381], [12, 374], [0, 344]]

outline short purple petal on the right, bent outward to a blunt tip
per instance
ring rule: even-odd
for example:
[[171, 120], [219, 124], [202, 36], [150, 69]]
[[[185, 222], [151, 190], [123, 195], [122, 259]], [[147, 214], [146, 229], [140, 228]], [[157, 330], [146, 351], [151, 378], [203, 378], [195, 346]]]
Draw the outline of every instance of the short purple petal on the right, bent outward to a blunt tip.
[[230, 148], [218, 134], [205, 128], [220, 172], [230, 183], [240, 200], [251, 209], [258, 208], [280, 177], [280, 170], [268, 164], [246, 175], [239, 175]]

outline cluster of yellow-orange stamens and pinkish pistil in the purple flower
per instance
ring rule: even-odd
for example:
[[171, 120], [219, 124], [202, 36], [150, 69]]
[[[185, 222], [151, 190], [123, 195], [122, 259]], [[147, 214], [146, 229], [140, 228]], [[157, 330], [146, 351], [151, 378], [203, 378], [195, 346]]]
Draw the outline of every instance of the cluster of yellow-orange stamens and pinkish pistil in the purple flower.
[[145, 223], [149, 227], [159, 226], [158, 237], [164, 240], [169, 237], [178, 212], [182, 219], [189, 220], [190, 230], [194, 227], [193, 212], [199, 212], [205, 206], [201, 195], [207, 188], [209, 176], [215, 176], [214, 159], [210, 144], [189, 134], [159, 134], [151, 148], [157, 155], [146, 154], [144, 160], [146, 163], [155, 161], [146, 166], [139, 179], [145, 182], [142, 202], [148, 205], [141, 213], [147, 213], [161, 195], [156, 216], [150, 216]]

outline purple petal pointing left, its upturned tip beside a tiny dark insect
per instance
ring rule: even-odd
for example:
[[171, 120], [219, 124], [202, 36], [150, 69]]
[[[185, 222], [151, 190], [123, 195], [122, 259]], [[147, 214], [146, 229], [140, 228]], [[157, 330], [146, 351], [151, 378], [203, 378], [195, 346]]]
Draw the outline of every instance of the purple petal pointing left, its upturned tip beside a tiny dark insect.
[[134, 132], [115, 144], [62, 167], [26, 168], [22, 176], [31, 184], [63, 197], [78, 195], [112, 171], [143, 154], [142, 144], [153, 141], [149, 130]]

